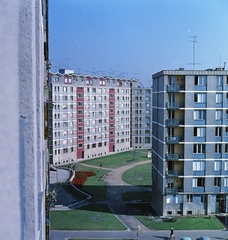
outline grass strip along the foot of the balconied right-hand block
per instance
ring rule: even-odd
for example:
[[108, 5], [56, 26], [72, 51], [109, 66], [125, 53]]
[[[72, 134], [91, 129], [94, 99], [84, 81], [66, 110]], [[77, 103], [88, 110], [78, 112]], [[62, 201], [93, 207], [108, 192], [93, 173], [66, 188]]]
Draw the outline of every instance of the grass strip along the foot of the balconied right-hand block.
[[200, 217], [181, 217], [177, 222], [156, 222], [148, 218], [148, 216], [136, 216], [149, 229], [169, 230], [174, 227], [175, 230], [219, 230], [223, 226], [213, 216]]

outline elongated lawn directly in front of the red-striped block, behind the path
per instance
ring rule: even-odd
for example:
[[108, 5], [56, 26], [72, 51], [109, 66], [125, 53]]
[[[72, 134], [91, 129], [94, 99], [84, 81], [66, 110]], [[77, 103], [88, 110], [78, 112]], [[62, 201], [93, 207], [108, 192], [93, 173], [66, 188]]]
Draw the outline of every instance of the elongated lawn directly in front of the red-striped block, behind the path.
[[95, 158], [87, 161], [83, 161], [83, 163], [90, 164], [93, 166], [107, 167], [107, 168], [118, 168], [125, 165], [129, 165], [134, 162], [146, 161], [150, 160], [147, 158], [146, 152], [136, 150], [136, 151], [127, 151], [122, 153], [116, 153], [109, 156], [104, 156], [100, 158]]

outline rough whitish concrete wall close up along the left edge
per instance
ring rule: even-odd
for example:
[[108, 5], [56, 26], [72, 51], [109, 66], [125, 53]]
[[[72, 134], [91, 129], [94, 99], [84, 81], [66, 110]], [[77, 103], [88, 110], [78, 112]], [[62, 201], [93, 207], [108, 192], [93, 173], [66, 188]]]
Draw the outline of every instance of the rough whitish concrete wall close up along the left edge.
[[0, 1], [0, 239], [45, 239], [40, 0]]

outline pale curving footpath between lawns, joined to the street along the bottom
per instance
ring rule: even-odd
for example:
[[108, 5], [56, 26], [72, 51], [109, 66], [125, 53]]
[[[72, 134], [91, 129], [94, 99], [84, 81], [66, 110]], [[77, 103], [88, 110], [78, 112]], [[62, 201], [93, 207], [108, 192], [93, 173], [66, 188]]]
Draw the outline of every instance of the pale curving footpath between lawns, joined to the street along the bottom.
[[[122, 180], [122, 175], [128, 169], [137, 165], [150, 163], [151, 160], [144, 162], [137, 162], [131, 165], [123, 166], [118, 169], [111, 170], [104, 178], [103, 181], [107, 183], [106, 194], [107, 201], [110, 209], [116, 217], [126, 226], [125, 231], [51, 231], [51, 240], [67, 240], [70, 238], [88, 238], [88, 239], [140, 239], [140, 240], [168, 240], [170, 231], [155, 231], [149, 230], [137, 218], [134, 212], [129, 212], [124, 201], [122, 201], [121, 193], [128, 191], [151, 191], [148, 188], [141, 188], [132, 186]], [[99, 167], [100, 168], [100, 167]], [[213, 230], [213, 231], [175, 231], [176, 239], [181, 236], [189, 236], [193, 239], [202, 235], [208, 236], [211, 239], [227, 240], [228, 232], [226, 230]]]

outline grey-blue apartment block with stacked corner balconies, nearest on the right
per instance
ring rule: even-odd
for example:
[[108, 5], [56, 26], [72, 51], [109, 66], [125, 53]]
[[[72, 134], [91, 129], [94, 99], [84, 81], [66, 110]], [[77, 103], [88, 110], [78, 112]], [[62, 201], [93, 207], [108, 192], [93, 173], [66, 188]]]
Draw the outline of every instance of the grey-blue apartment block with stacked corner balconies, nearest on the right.
[[153, 77], [153, 205], [160, 215], [228, 212], [228, 71]]

